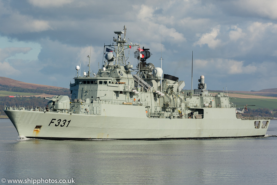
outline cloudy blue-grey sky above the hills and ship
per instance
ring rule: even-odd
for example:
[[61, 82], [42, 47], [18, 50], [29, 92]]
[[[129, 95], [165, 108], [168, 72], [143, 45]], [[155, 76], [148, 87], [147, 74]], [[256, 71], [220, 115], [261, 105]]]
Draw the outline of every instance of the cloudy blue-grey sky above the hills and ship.
[[[69, 88], [76, 65], [98, 71], [103, 46], [126, 25], [148, 63], [191, 89], [277, 88], [275, 0], [0, 0], [0, 76]], [[91, 54], [90, 54], [91, 46]], [[136, 48], [130, 49], [130, 58]]]

